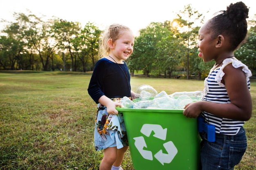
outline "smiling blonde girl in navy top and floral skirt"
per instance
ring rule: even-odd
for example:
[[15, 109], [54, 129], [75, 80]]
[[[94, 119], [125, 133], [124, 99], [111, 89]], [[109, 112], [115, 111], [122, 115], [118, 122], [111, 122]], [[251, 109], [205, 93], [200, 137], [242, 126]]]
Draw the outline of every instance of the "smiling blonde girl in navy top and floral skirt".
[[133, 52], [134, 35], [130, 28], [112, 24], [100, 41], [99, 55], [88, 93], [98, 104], [94, 145], [96, 150], [104, 149], [100, 170], [122, 170], [121, 162], [128, 149], [124, 118], [116, 107], [124, 96], [132, 99], [130, 74], [124, 60]]

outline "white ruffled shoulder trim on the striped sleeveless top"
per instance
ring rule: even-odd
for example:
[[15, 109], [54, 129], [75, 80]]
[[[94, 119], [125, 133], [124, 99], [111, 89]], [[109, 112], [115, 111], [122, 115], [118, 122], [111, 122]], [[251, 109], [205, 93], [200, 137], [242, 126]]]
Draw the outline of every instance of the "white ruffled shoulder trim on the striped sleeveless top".
[[243, 72], [245, 72], [247, 81], [249, 81], [249, 77], [252, 76], [252, 72], [251, 72], [251, 70], [249, 70], [247, 65], [245, 65], [244, 63], [242, 63], [235, 57], [227, 58], [227, 59], [223, 60], [222, 63], [223, 63], [223, 65], [220, 67], [220, 70], [218, 71], [218, 73], [216, 74], [216, 77], [215, 77], [215, 81], [217, 81], [221, 87], [225, 87], [225, 85], [223, 83], [221, 83], [222, 77], [225, 75], [225, 73], [223, 72], [223, 69], [231, 63], [234, 68], [240, 68], [240, 67], [243, 68], [242, 70], [243, 70]]

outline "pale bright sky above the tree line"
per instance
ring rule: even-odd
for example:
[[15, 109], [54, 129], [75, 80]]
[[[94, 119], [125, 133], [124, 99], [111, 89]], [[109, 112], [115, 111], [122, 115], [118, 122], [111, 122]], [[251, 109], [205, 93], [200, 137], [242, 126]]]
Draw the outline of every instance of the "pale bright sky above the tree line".
[[[104, 30], [113, 23], [124, 24], [135, 34], [151, 22], [173, 20], [185, 6], [198, 10], [210, 19], [214, 13], [226, 10], [230, 3], [240, 0], [0, 0], [0, 20], [13, 21], [13, 13], [30, 11], [40, 17], [52, 16], [69, 22], [80, 22], [84, 27], [92, 22]], [[249, 19], [256, 14], [256, 1], [242, 0], [249, 7]], [[207, 11], [209, 11], [207, 13]], [[0, 30], [4, 25], [0, 23]]]

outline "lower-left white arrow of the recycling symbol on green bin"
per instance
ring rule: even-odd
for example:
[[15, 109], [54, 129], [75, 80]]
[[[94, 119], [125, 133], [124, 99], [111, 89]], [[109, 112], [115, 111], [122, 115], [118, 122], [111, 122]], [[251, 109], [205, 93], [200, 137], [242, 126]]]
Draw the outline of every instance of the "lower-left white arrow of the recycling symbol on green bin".
[[139, 137], [134, 137], [133, 139], [135, 140], [134, 144], [136, 148], [139, 150], [139, 153], [141, 154], [141, 156], [144, 157], [144, 159], [148, 159], [152, 161], [153, 160], [152, 152], [149, 150], [143, 150], [144, 147], [147, 147], [144, 137], [139, 136]]

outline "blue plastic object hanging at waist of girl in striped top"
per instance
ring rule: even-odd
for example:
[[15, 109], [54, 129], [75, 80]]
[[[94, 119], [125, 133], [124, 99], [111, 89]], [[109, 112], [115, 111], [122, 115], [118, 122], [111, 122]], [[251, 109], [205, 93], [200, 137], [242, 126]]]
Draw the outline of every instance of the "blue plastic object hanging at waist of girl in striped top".
[[207, 133], [207, 140], [209, 142], [215, 142], [215, 126], [213, 124], [207, 124], [204, 122], [202, 116], [198, 117], [198, 132]]

